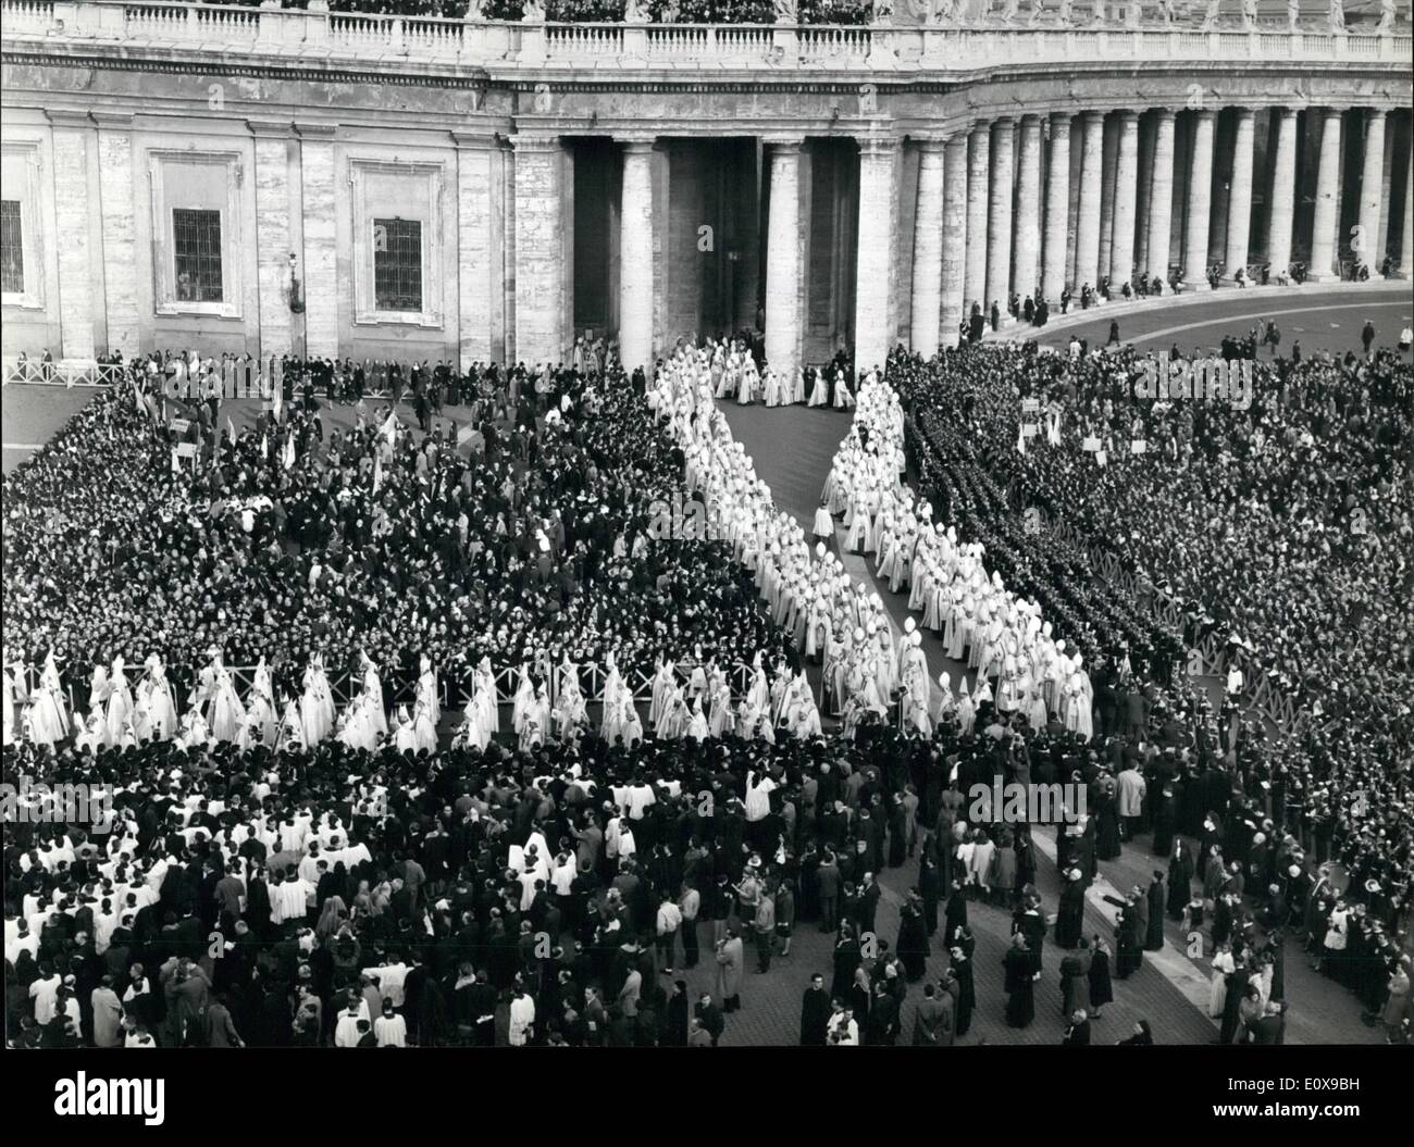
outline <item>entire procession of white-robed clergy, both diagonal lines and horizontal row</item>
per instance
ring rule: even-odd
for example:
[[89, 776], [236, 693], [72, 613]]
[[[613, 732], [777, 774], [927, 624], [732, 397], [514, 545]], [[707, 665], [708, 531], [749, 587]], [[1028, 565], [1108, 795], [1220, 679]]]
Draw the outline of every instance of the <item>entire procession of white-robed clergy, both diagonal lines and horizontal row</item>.
[[[708, 537], [728, 542], [735, 559], [752, 571], [772, 619], [792, 636], [803, 658], [823, 662], [824, 701], [840, 716], [844, 736], [853, 737], [867, 719], [896, 719], [922, 737], [942, 719], [971, 732], [976, 708], [994, 701], [1005, 715], [1019, 711], [1035, 729], [1055, 715], [1089, 740], [1093, 691], [1080, 654], [1068, 654], [1063, 640], [1052, 640], [1051, 624], [1042, 622], [1035, 603], [1008, 593], [1000, 575], [988, 578], [983, 547], [959, 544], [956, 531], [935, 524], [932, 507], [904, 483], [904, 414], [895, 391], [874, 373], [863, 379], [853, 425], [816, 511], [812, 549], [795, 518], [773, 504], [771, 489], [756, 477], [715, 404], [724, 386], [754, 387], [754, 370], [749, 356], [735, 346], [708, 340], [703, 347], [680, 347], [659, 369], [648, 403], [683, 451], [686, 486], [703, 499]], [[816, 391], [823, 386], [822, 376]], [[843, 376], [834, 388], [837, 398], [843, 394], [854, 404]], [[848, 531], [846, 549], [877, 555], [877, 575], [895, 592], [909, 586], [909, 609], [921, 612], [925, 629], [942, 634], [946, 654], [954, 660], [966, 654], [976, 671], [974, 691], [963, 678], [954, 695], [947, 672], [932, 679], [913, 617], [905, 620], [898, 638], [880, 595], [853, 581], [839, 554], [830, 551], [834, 516], [843, 516]], [[54, 746], [72, 736], [79, 751], [88, 747], [93, 753], [148, 739], [177, 739], [188, 747], [225, 742], [242, 750], [256, 743], [310, 749], [327, 737], [368, 750], [386, 743], [413, 753], [438, 747], [441, 688], [426, 655], [413, 703], [392, 712], [385, 706], [379, 667], [366, 655], [361, 658], [362, 679], [354, 682], [342, 712], [318, 654], [304, 670], [298, 698], [274, 695], [263, 658], [242, 698], [221, 650], [211, 647], [208, 657], [181, 709], [156, 653], [143, 662], [136, 687], [123, 655], [117, 655], [110, 667], [95, 668], [88, 716], [75, 715], [71, 727], [52, 653], [33, 688], [27, 687], [27, 667], [7, 654], [4, 743]], [[533, 674], [532, 667], [520, 667], [513, 694], [510, 723], [522, 749], [550, 737], [577, 739], [590, 727], [581, 667], [566, 657], [553, 696], [547, 667], [536, 668]], [[727, 665], [703, 662], [700, 651], [690, 665], [660, 655], [648, 708], [652, 735], [660, 740], [737, 735], [766, 742], [781, 735], [820, 736], [820, 709], [803, 668], [792, 672], [781, 661], [768, 677], [758, 653], [747, 677], [734, 702]], [[645, 730], [635, 694], [612, 654], [602, 679], [595, 698], [602, 705], [600, 735], [609, 744], [639, 743]], [[498, 702], [493, 668], [482, 658], [452, 743], [485, 747], [499, 733]]]

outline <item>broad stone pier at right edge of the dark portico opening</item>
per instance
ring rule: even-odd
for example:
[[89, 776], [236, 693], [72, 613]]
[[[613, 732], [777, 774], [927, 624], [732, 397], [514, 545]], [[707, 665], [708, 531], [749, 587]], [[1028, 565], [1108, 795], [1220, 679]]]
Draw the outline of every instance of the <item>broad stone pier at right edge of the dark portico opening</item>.
[[[884, 369], [892, 339], [894, 186], [898, 141], [860, 140], [860, 226], [854, 278], [854, 366]], [[937, 319], [933, 319], [936, 329]]]

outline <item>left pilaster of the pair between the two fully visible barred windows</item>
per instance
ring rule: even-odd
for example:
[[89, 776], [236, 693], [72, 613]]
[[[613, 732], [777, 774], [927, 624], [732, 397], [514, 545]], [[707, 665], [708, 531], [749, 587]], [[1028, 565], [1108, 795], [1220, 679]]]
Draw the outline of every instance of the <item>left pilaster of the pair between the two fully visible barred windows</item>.
[[[249, 120], [256, 137], [256, 281], [260, 285], [260, 359], [269, 362], [294, 352], [294, 318], [290, 311], [290, 147], [288, 123]], [[296, 258], [296, 274], [304, 267]], [[307, 294], [301, 287], [301, 292]]]

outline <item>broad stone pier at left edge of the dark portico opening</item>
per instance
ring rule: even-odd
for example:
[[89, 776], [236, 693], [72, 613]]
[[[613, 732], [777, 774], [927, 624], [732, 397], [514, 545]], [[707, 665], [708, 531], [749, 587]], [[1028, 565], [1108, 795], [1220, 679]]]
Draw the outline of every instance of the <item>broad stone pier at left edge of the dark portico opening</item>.
[[559, 136], [512, 136], [515, 147], [516, 346], [526, 366], [557, 363], [566, 353], [564, 147]]

